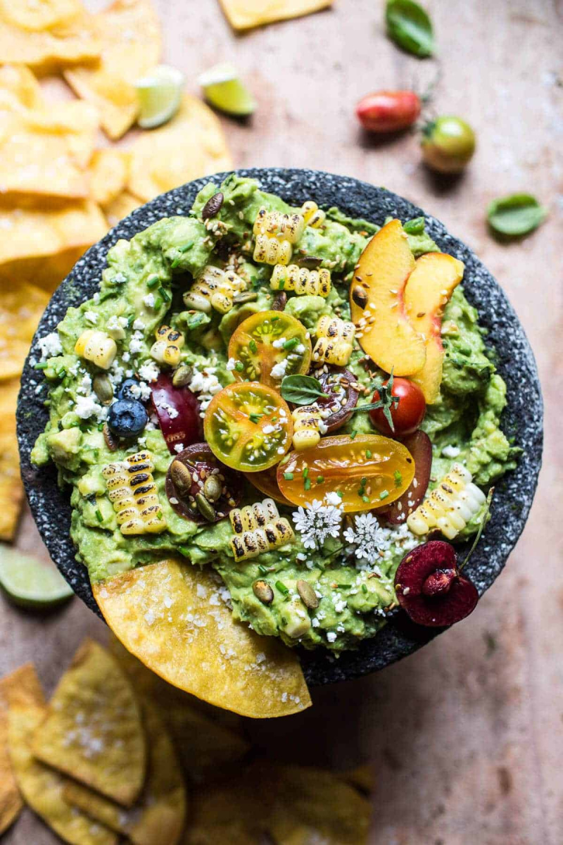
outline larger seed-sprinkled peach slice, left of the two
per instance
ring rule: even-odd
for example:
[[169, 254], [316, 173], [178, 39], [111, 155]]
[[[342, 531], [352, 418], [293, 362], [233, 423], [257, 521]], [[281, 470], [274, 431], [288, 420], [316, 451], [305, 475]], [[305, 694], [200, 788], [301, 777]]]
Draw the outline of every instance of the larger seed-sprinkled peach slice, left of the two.
[[386, 373], [412, 375], [423, 368], [425, 338], [410, 323], [404, 289], [415, 262], [400, 221], [383, 226], [356, 266], [350, 313], [364, 352]]

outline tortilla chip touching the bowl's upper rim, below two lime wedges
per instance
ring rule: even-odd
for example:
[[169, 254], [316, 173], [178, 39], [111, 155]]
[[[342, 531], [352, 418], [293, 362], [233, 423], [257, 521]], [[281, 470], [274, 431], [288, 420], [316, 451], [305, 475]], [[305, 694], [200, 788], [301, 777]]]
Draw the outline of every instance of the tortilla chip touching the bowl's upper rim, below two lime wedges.
[[128, 188], [147, 202], [232, 166], [219, 118], [201, 100], [185, 94], [176, 117], [133, 143]]

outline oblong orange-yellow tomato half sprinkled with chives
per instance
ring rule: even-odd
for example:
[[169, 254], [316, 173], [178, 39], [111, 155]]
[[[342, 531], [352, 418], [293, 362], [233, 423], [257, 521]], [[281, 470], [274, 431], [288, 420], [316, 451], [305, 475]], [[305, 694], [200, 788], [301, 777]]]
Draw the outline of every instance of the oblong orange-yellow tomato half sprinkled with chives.
[[397, 440], [378, 434], [324, 437], [293, 451], [278, 466], [279, 489], [293, 504], [341, 494], [346, 513], [382, 508], [398, 499], [414, 477], [414, 460]]

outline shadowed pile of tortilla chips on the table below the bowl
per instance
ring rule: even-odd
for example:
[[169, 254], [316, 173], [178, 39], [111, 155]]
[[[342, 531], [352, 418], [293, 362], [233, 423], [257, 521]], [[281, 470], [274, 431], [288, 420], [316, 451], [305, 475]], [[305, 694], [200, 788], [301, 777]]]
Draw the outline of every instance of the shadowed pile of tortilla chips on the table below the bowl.
[[0, 834], [23, 804], [75, 845], [361, 845], [371, 773], [258, 758], [241, 717], [84, 641], [48, 703], [0, 680]]

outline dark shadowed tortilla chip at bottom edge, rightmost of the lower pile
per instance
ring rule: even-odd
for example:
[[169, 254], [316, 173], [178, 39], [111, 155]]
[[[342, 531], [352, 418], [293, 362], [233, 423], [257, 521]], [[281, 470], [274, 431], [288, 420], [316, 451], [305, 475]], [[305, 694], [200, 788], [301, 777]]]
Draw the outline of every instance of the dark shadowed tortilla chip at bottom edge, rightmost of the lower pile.
[[274, 795], [269, 832], [279, 845], [363, 845], [371, 802], [330, 771], [279, 766], [268, 778]]

